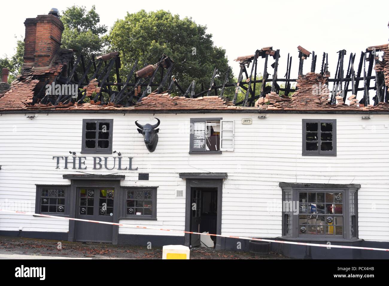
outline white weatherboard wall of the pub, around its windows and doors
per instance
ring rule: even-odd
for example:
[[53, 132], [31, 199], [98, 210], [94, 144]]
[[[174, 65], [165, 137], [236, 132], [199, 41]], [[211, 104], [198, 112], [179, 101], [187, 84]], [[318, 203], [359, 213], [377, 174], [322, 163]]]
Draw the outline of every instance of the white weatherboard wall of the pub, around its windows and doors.
[[[27, 114], [31, 115], [31, 114]], [[29, 203], [35, 211], [35, 184], [70, 184], [56, 169], [53, 156], [86, 156], [84, 172], [126, 176], [122, 186], [158, 186], [157, 221], [121, 220], [121, 223], [184, 230], [186, 181], [179, 172], [226, 172], [223, 183], [222, 234], [251, 237], [281, 235], [279, 182], [361, 184], [358, 192], [359, 238], [389, 241], [389, 116], [348, 114], [25, 114], [0, 116], [0, 203]], [[154, 124], [159, 142], [149, 153], [134, 124]], [[223, 154], [189, 155], [190, 118], [235, 121], [235, 149]], [[92, 156], [80, 154], [82, 119], [114, 119], [112, 150], [133, 157], [136, 171], [92, 170]], [[252, 118], [252, 125], [242, 125]], [[301, 119], [336, 119], [337, 156], [301, 155]], [[90, 156], [89, 156], [90, 155]], [[123, 159], [125, 162], [125, 160]], [[112, 166], [109, 166], [112, 167]], [[138, 173], [150, 173], [138, 181]], [[28, 205], [28, 204], [27, 204]], [[0, 230], [67, 232], [68, 221], [0, 214]], [[180, 233], [119, 228], [119, 233], [181, 235]]]

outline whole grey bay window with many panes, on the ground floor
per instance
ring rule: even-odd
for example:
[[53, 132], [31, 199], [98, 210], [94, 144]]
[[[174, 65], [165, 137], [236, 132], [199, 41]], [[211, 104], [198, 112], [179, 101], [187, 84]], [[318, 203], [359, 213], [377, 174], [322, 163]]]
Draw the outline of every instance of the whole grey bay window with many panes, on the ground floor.
[[280, 183], [283, 236], [301, 240], [357, 239], [357, 184]]

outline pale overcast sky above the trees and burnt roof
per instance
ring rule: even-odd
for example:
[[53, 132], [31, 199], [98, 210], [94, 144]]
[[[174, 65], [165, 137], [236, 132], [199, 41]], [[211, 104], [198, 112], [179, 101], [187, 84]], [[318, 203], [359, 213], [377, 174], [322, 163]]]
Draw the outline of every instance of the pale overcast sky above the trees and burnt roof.
[[[54, 6], [63, 11], [72, 5], [88, 9], [96, 5], [102, 24], [111, 27], [126, 12], [140, 9], [169, 10], [201, 25], [207, 25], [216, 46], [226, 49], [226, 55], [237, 76], [239, 67], [233, 61], [237, 56], [253, 54], [261, 47], [280, 49], [279, 77], [286, 71], [287, 54], [293, 56], [292, 78], [297, 75], [298, 51], [301, 45], [318, 55], [316, 71], [320, 72], [323, 51], [329, 56], [331, 77], [335, 75], [337, 51], [359, 54], [368, 46], [385, 44], [389, 38], [389, 1], [216, 1], [216, 0], [147, 0], [147, 1], [3, 1], [0, 9], [0, 55], [12, 55], [18, 36], [23, 39], [26, 18], [47, 14]], [[305, 61], [304, 73], [309, 71], [310, 59]], [[270, 64], [273, 60], [270, 61]], [[345, 63], [347, 69], [347, 63]], [[179, 64], [179, 63], [177, 63]], [[263, 70], [259, 70], [263, 72]], [[268, 72], [272, 73], [272, 68]], [[346, 72], [346, 71], [345, 71]], [[210, 75], [212, 76], [212, 75]]]

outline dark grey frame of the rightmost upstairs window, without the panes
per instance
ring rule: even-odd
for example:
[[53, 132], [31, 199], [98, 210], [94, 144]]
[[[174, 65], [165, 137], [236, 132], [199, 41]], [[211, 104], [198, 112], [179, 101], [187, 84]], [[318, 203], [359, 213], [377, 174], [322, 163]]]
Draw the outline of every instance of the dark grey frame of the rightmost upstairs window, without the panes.
[[[307, 151], [307, 123], [317, 123], [317, 151]], [[331, 151], [321, 150], [321, 123], [332, 123], [332, 147]], [[336, 119], [302, 119], [302, 155], [303, 156], [336, 156]]]

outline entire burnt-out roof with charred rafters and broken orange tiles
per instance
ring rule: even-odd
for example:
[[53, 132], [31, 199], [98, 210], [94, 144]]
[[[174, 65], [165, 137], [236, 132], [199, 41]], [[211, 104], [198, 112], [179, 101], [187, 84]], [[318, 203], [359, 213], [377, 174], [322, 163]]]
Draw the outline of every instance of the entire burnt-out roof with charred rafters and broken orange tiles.
[[[57, 29], [54, 31], [60, 34], [63, 26], [57, 19], [58, 15], [58, 10], [53, 8], [49, 15], [27, 19], [25, 22], [26, 37], [27, 35], [32, 37], [33, 33], [27, 33], [27, 29], [35, 24], [54, 25]], [[168, 109], [179, 108], [179, 105], [187, 109], [193, 104], [187, 103], [185, 99], [190, 101], [190, 99], [212, 97], [215, 99], [208, 102], [213, 102], [214, 106], [229, 109], [252, 107], [259, 110], [307, 110], [308, 108], [310, 110], [333, 110], [336, 108], [347, 111], [369, 111], [380, 108], [389, 111], [388, 44], [368, 47], [366, 51], [361, 52], [360, 56], [356, 53], [348, 55], [344, 49], [341, 49], [338, 51], [336, 69], [332, 73], [333, 78], [330, 77], [328, 53], [323, 52], [320, 56], [320, 72], [316, 72], [317, 55], [315, 52], [311, 53], [306, 48], [298, 46], [296, 52], [298, 52], [299, 63], [298, 68], [295, 68], [298, 78], [295, 79], [291, 78], [292, 54], [288, 53], [287, 56], [281, 58], [279, 49], [274, 49], [272, 46], [263, 47], [254, 51], [253, 54], [239, 56], [235, 59], [240, 67], [237, 82], [229, 81], [231, 68], [228, 70], [215, 68], [209, 75], [207, 87], [204, 88], [205, 82], [195, 81], [191, 81], [189, 86], [181, 86], [179, 75], [174, 77], [172, 73], [175, 63], [165, 54], [161, 55], [159, 61], [146, 63], [143, 67], [138, 67], [138, 60], [133, 59], [134, 63], [130, 72], [123, 77], [119, 72], [121, 55], [117, 51], [87, 58], [82, 54], [77, 54], [74, 50], [57, 49], [61, 39], [55, 38], [55, 35], [53, 37], [51, 35], [48, 39], [42, 39], [39, 35], [36, 35], [36, 39], [28, 39], [31, 44], [25, 49], [25, 63], [21, 75], [12, 84], [10, 91], [0, 95], [0, 110], [7, 108], [12, 102], [13, 95], [20, 92], [26, 94], [25, 100], [12, 102], [15, 109], [55, 109], [70, 106], [77, 108], [77, 106], [90, 105], [105, 109], [122, 107], [147, 109], [148, 106], [153, 105], [153, 108], [158, 109], [158, 104]], [[34, 59], [37, 49], [41, 49], [47, 41], [54, 47], [47, 49], [47, 54], [45, 54], [47, 58], [44, 61], [41, 59], [42, 56]], [[378, 56], [378, 52], [381, 52], [382, 58]], [[354, 68], [356, 57], [357, 63]], [[260, 58], [264, 59], [263, 66], [258, 65]], [[304, 75], [303, 63], [308, 58], [311, 58], [310, 72]], [[283, 77], [279, 76], [278, 68], [279, 61], [282, 59], [286, 61], [286, 72]], [[269, 61], [272, 62], [269, 63]], [[372, 75], [373, 68], [375, 75]], [[262, 77], [259, 77], [259, 72], [262, 72]], [[223, 84], [217, 85], [216, 77], [219, 77]], [[296, 82], [295, 88], [292, 86], [293, 82]], [[261, 88], [256, 88], [258, 83], [262, 84]], [[75, 94], [62, 91], [57, 93], [57, 90], [55, 92], [53, 90], [56, 84], [77, 84], [78, 89]], [[332, 84], [331, 88], [328, 84]], [[47, 85], [53, 88], [47, 89]], [[195, 86], [202, 86], [202, 91], [195, 94]], [[176, 87], [175, 92], [180, 94], [180, 99], [169, 99], [168, 95]], [[228, 87], [235, 88], [232, 102], [223, 98], [224, 91]], [[376, 95], [372, 98], [374, 102], [370, 104], [369, 92], [372, 90]], [[280, 94], [280, 91], [284, 94]], [[358, 92], [363, 94], [360, 100], [356, 98]], [[238, 101], [238, 93], [244, 95], [240, 101]], [[161, 96], [158, 96], [159, 94]], [[149, 97], [153, 100], [147, 100]], [[16, 98], [19, 97], [15, 96], [15, 100]], [[216, 98], [219, 99], [216, 100]], [[346, 104], [346, 101], [349, 104]], [[204, 106], [212, 105], [207, 105], [201, 100], [193, 102], [204, 104]]]

